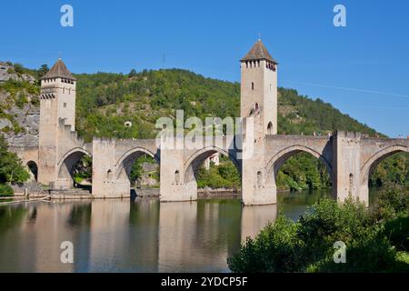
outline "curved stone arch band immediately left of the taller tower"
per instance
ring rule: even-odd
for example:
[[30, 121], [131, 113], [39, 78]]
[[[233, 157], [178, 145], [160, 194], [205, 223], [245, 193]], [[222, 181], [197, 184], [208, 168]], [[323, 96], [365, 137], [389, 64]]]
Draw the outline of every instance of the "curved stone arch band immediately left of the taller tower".
[[221, 149], [216, 146], [206, 146], [205, 148], [202, 148], [198, 151], [196, 151], [194, 154], [189, 156], [187, 160], [185, 161], [185, 171], [184, 171], [184, 181], [185, 183], [195, 181], [195, 172], [203, 164], [206, 158], [209, 156], [214, 155], [214, 153], [219, 153], [223, 156], [227, 156], [234, 164], [235, 168], [237, 169], [239, 175], [241, 176], [241, 165], [238, 162], [238, 160], [235, 158], [233, 153], [230, 153], [228, 151], [225, 151], [224, 149]]

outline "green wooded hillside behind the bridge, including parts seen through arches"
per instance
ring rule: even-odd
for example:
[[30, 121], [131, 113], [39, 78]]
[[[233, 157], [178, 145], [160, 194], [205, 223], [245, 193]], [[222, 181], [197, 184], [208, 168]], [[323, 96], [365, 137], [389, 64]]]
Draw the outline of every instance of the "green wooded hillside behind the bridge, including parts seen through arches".
[[[20, 68], [25, 74], [38, 79], [46, 72], [43, 65], [38, 70]], [[76, 130], [90, 142], [93, 136], [117, 138], [155, 137], [157, 118], [175, 118], [175, 111], [185, 110], [185, 118], [198, 116], [239, 116], [240, 84], [206, 78], [182, 69], [144, 70], [128, 75], [96, 73], [75, 75], [77, 78]], [[22, 105], [25, 92], [37, 94], [39, 85], [8, 81], [0, 85], [10, 92], [12, 102], [0, 105], [1, 115], [5, 106]], [[294, 89], [278, 89], [278, 133], [286, 135], [327, 135], [334, 130], [357, 131], [374, 136], [380, 135], [373, 128], [363, 125], [349, 115], [342, 114], [321, 99], [313, 100], [298, 95]], [[20, 100], [20, 101], [19, 101]], [[35, 98], [31, 103], [36, 105]], [[2, 111], [3, 110], [3, 111]], [[13, 116], [8, 116], [13, 120]], [[126, 127], [126, 121], [132, 126]], [[18, 126], [7, 129], [20, 130]], [[21, 129], [23, 130], [23, 129]], [[223, 160], [210, 171], [200, 169], [197, 174], [199, 186], [240, 187], [240, 179], [231, 173], [233, 163]], [[135, 173], [138, 170], [135, 169]], [[226, 174], [228, 173], [228, 174]], [[409, 157], [399, 154], [386, 159], [371, 176], [371, 185], [382, 186], [387, 181], [409, 184]], [[324, 166], [313, 156], [298, 154], [291, 157], [277, 176], [277, 187], [282, 190], [326, 188], [331, 181]]]

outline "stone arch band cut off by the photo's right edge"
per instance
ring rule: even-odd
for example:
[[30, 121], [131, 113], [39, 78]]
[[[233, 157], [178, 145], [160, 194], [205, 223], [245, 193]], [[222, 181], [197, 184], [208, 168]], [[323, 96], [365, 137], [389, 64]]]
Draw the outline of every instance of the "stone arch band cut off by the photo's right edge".
[[366, 187], [368, 186], [369, 176], [371, 176], [372, 172], [374, 171], [374, 168], [378, 166], [385, 158], [402, 152], [409, 153], [409, 147], [400, 145], [389, 146], [371, 156], [364, 163], [364, 166], [361, 167], [361, 180], [363, 186]]

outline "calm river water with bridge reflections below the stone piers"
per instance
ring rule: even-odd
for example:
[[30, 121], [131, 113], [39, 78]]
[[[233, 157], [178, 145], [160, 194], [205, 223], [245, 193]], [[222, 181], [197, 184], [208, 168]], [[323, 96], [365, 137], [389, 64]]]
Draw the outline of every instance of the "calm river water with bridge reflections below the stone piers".
[[[328, 191], [278, 194], [277, 205], [237, 198], [33, 202], [0, 206], [0, 272], [229, 272], [226, 260], [277, 212], [297, 219]], [[74, 263], [61, 262], [72, 242]]]

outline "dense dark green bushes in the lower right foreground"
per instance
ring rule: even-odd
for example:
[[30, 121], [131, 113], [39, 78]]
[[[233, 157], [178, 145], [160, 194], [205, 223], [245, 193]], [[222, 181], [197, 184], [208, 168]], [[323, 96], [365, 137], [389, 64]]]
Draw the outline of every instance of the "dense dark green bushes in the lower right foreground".
[[[409, 190], [386, 191], [374, 213], [351, 198], [344, 204], [323, 198], [296, 222], [280, 214], [228, 264], [234, 272], [408, 272]], [[394, 215], [379, 216], [384, 206]], [[346, 246], [345, 263], [334, 263], [338, 241]]]

